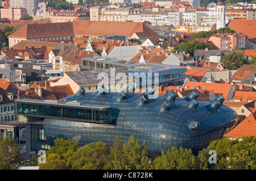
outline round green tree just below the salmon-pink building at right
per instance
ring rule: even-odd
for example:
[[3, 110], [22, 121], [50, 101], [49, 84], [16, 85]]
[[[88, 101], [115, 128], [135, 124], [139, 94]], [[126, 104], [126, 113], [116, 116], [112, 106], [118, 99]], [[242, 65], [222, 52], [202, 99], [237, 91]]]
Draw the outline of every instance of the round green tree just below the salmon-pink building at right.
[[222, 56], [221, 63], [224, 69], [236, 70], [246, 64], [246, 60], [242, 53], [233, 51]]

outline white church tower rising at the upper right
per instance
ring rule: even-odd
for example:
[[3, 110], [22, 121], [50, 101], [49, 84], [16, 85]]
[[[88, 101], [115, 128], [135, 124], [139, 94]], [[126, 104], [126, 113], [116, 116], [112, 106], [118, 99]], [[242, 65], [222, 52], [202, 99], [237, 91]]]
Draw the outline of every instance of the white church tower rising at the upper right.
[[226, 27], [226, 5], [224, 3], [225, 0], [218, 0], [217, 3], [217, 26], [218, 28]]

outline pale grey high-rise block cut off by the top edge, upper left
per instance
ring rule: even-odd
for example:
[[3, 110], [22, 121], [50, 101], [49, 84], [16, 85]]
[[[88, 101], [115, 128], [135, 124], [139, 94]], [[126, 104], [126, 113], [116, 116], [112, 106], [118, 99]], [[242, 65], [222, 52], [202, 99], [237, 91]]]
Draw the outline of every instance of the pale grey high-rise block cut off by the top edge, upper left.
[[33, 16], [38, 9], [39, 0], [10, 0], [10, 7], [27, 9], [27, 14]]

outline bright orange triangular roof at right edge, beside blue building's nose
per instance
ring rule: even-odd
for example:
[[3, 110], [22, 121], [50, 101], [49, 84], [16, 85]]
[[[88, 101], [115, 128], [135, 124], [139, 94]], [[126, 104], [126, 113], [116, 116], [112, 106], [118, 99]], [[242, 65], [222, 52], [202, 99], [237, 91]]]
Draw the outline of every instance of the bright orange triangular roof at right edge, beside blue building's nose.
[[241, 138], [243, 136], [256, 136], [256, 120], [255, 113], [251, 113], [245, 120], [238, 124], [230, 132], [226, 133], [224, 137]]

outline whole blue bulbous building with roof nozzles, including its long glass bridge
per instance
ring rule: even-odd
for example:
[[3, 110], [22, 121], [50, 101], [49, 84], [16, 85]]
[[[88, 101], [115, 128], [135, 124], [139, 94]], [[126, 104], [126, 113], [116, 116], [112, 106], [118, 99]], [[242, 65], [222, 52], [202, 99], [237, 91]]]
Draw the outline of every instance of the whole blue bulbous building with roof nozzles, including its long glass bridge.
[[121, 92], [108, 92], [102, 86], [97, 92], [85, 93], [81, 88], [59, 101], [16, 99], [15, 108], [17, 115], [44, 117], [50, 146], [61, 137], [82, 146], [96, 141], [112, 145], [115, 136], [125, 142], [133, 135], [146, 143], [150, 154], [172, 146], [196, 152], [238, 124], [236, 112], [222, 105], [223, 96], [211, 102], [197, 96], [195, 91], [185, 98], [176, 98], [173, 91], [155, 96], [152, 87], [135, 94], [131, 85]]

